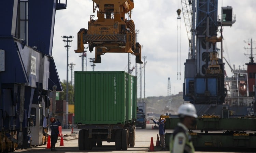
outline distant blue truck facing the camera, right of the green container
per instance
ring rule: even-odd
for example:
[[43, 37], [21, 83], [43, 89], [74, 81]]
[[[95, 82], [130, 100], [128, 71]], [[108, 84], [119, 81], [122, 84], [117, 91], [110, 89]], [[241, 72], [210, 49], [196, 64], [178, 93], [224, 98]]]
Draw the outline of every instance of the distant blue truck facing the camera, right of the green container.
[[141, 129], [146, 129], [146, 103], [138, 102], [137, 103], [137, 120], [136, 127], [141, 127]]

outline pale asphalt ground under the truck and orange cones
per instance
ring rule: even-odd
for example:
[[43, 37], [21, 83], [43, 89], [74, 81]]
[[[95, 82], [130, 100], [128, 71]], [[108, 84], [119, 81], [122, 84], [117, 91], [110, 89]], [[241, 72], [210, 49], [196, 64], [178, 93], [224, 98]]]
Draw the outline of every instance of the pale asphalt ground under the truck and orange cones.
[[[107, 153], [107, 152], [128, 152], [128, 153], [142, 153], [142, 152], [149, 152], [150, 144], [151, 144], [151, 137], [153, 137], [154, 143], [154, 151], [155, 152], [162, 152], [168, 153], [169, 151], [161, 151], [161, 147], [156, 147], [156, 138], [157, 134], [159, 133], [157, 129], [152, 129], [153, 124], [147, 124], [146, 129], [137, 128], [136, 129], [136, 140], [134, 147], [128, 147], [127, 150], [116, 150], [115, 149], [115, 142], [102, 142], [102, 147], [93, 147], [92, 150], [79, 150], [78, 148], [78, 133], [80, 129], [73, 129], [73, 133], [71, 133], [71, 129], [62, 129], [63, 135], [63, 143], [64, 146], [60, 145], [60, 137], [56, 143], [56, 150], [57, 153], [84, 153], [84, 152], [99, 152], [99, 153]], [[166, 130], [166, 132], [172, 132], [172, 130]], [[51, 132], [49, 131], [49, 134]], [[26, 152], [26, 153], [45, 153], [51, 152], [51, 149], [46, 149], [47, 145], [32, 147], [28, 149], [19, 149], [15, 150], [14, 152]], [[225, 151], [229, 153], [243, 153], [243, 152], [234, 152], [234, 151]], [[256, 152], [256, 151], [254, 151]], [[224, 153], [224, 152], [212, 152], [212, 151], [196, 151], [196, 153]], [[248, 152], [247, 152], [248, 153]]]

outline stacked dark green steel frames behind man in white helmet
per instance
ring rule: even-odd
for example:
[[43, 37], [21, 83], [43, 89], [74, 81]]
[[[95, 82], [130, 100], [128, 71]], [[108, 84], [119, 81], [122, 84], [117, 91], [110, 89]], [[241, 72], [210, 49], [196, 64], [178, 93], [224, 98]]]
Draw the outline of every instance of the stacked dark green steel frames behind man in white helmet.
[[[174, 129], [179, 118], [166, 118], [166, 129]], [[205, 115], [197, 118], [197, 125], [189, 129], [193, 145], [198, 150], [227, 149], [250, 151], [256, 149], [256, 118], [217, 118]], [[172, 133], [166, 133], [169, 145]]]

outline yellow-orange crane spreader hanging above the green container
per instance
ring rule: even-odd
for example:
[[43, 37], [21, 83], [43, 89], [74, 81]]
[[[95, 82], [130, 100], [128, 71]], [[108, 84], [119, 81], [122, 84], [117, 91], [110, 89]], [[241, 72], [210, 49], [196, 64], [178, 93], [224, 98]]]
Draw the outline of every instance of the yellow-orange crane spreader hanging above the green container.
[[80, 29], [77, 33], [76, 53], [84, 52], [84, 44], [92, 52], [95, 47], [94, 63], [101, 63], [105, 53], [131, 53], [136, 56], [136, 63], [142, 64], [141, 45], [136, 43], [135, 24], [131, 18], [133, 0], [93, 0], [93, 12], [97, 11], [97, 20], [90, 16], [88, 30]]

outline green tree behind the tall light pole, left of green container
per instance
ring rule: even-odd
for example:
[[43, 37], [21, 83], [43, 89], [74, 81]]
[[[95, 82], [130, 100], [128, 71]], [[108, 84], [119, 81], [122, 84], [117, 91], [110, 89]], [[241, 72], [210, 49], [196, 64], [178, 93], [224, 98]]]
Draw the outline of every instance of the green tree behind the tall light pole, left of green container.
[[[66, 82], [67, 82], [66, 80], [63, 80], [61, 82], [61, 86], [62, 86], [63, 92], [60, 92], [59, 100], [66, 100], [66, 90], [67, 90]], [[71, 85], [71, 82], [69, 82], [68, 94], [69, 94], [69, 101], [68, 101], [68, 103], [69, 104], [74, 104], [74, 86]]]

